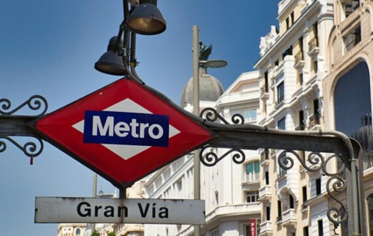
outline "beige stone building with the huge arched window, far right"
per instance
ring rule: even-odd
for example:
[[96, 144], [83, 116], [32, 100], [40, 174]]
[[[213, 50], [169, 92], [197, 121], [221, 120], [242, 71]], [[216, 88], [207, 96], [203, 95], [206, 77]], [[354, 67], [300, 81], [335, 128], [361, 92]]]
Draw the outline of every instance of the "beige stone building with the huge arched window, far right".
[[[334, 9], [327, 41], [328, 75], [323, 80], [324, 124], [325, 129], [357, 139], [363, 148], [366, 215], [361, 220], [367, 224], [367, 235], [373, 235], [373, 1], [334, 1]], [[338, 231], [348, 235], [345, 225]]]

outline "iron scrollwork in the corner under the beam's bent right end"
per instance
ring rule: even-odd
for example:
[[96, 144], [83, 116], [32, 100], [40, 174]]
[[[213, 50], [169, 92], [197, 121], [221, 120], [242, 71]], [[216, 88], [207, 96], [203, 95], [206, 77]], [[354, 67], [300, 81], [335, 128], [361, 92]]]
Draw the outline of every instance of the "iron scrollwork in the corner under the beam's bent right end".
[[[347, 207], [341, 200], [339, 200], [335, 196], [335, 194], [333, 194], [330, 187], [332, 187], [332, 189], [336, 193], [342, 193], [343, 191], [346, 190], [346, 181], [341, 177], [342, 176], [341, 174], [345, 168], [345, 164], [343, 162], [342, 156], [338, 154], [334, 154], [334, 155], [329, 156], [325, 160], [325, 158], [321, 155], [321, 153], [311, 152], [307, 158], [307, 161], [310, 162], [311, 164], [311, 166], [309, 167], [307, 166], [305, 160], [301, 158], [301, 156], [297, 152], [292, 151], [292, 150], [285, 150], [279, 154], [279, 158], [277, 159], [280, 168], [285, 169], [285, 170], [289, 170], [294, 166], [294, 160], [290, 156], [286, 155], [286, 153], [291, 153], [292, 155], [294, 155], [298, 159], [298, 161], [302, 164], [302, 166], [308, 171], [318, 172], [322, 170], [323, 175], [330, 177], [326, 183], [326, 191], [329, 194], [329, 196], [333, 198], [333, 200], [336, 201], [336, 203], [339, 205], [339, 208], [333, 207], [333, 206], [329, 207], [326, 215], [328, 219], [334, 224], [334, 226], [338, 227], [340, 223], [344, 222], [347, 219]], [[328, 162], [333, 158], [339, 158], [342, 160], [341, 167], [335, 173], [331, 173], [327, 171], [327, 168], [326, 168], [326, 165], [328, 164]]]

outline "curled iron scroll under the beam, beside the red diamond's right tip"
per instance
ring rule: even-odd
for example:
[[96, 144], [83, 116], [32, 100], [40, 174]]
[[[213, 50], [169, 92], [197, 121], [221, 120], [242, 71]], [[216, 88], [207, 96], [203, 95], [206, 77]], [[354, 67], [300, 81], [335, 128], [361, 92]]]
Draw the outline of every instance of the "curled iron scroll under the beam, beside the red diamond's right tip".
[[207, 166], [212, 167], [217, 164], [217, 162], [221, 161], [227, 155], [232, 153], [232, 160], [236, 164], [242, 164], [245, 161], [245, 153], [241, 149], [230, 149], [229, 151], [225, 152], [222, 156], [218, 156], [213, 151], [206, 151], [206, 149], [213, 148], [210, 145], [204, 146], [200, 151], [200, 160], [201, 162]]

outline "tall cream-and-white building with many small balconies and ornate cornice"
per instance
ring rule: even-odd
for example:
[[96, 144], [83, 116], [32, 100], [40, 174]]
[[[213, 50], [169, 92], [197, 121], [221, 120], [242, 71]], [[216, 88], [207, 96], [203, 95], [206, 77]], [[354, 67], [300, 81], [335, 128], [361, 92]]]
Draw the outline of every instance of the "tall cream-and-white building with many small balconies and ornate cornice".
[[[261, 38], [261, 58], [254, 66], [261, 74], [259, 124], [323, 129], [322, 81], [333, 0], [282, 0], [278, 6], [279, 28], [272, 26]], [[299, 162], [283, 170], [277, 163], [281, 151], [260, 150], [259, 235], [330, 235], [325, 177], [308, 173]]]

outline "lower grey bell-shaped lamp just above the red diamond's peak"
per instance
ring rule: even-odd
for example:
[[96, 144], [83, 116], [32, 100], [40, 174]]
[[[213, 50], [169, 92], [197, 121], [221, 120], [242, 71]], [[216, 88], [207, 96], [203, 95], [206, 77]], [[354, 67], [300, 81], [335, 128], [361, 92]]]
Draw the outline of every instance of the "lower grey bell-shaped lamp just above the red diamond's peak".
[[116, 41], [117, 36], [110, 39], [107, 52], [98, 59], [94, 64], [94, 68], [109, 75], [126, 75], [122, 55], [119, 55], [123, 48], [123, 41], [120, 40], [119, 45], [116, 45]]

